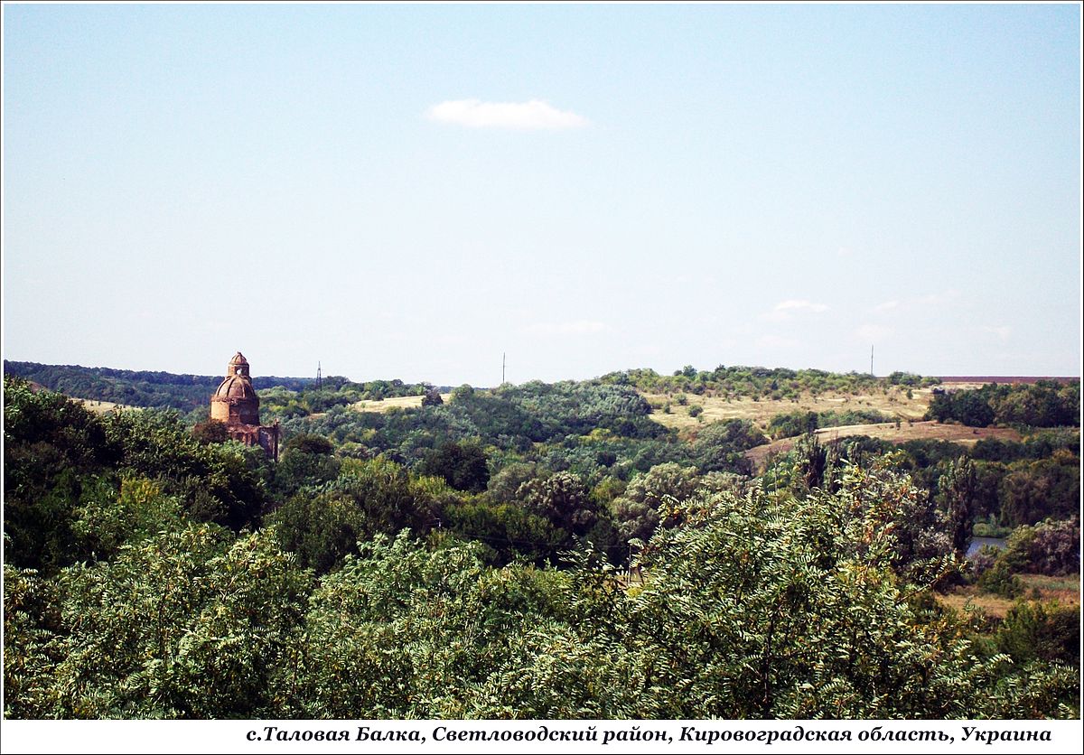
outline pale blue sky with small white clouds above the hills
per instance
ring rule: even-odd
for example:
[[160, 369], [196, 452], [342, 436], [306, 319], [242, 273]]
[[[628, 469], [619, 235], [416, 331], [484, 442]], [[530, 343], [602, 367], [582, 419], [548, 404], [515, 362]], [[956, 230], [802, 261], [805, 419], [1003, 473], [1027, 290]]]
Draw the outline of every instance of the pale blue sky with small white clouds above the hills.
[[4, 357], [1079, 375], [1080, 14], [5, 4]]

